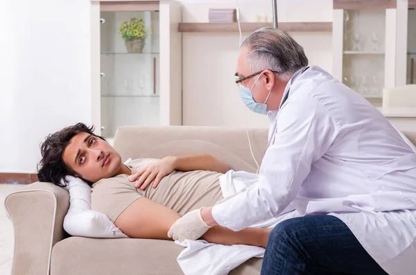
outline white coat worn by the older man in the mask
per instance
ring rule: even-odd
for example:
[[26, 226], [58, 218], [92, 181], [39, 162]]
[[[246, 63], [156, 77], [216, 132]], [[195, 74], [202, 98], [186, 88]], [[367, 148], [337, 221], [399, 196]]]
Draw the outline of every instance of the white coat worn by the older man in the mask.
[[259, 181], [214, 206], [214, 219], [238, 231], [289, 204], [301, 215], [329, 213], [386, 272], [416, 274], [415, 152], [365, 98], [317, 66], [302, 71], [268, 112]]

